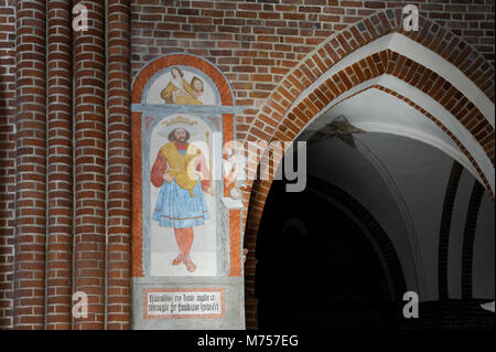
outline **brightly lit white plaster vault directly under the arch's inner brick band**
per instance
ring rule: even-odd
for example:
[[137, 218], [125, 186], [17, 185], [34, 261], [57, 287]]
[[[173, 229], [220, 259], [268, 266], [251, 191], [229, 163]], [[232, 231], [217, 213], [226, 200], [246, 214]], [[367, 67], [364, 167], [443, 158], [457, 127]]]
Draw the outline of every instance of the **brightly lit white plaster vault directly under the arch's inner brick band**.
[[[421, 90], [392, 76], [384, 75], [378, 79], [373, 79], [355, 87], [337, 100], [349, 97], [354, 93], [375, 84], [391, 87], [393, 90], [409, 97], [443, 122], [475, 158], [494, 189], [494, 168], [485, 151], [455, 117]], [[364, 111], [366, 113], [364, 114]], [[385, 92], [375, 88], [362, 92], [320, 115], [319, 118], [312, 120], [308, 129], [319, 129], [341, 115], [346, 116], [351, 124], [366, 131], [405, 136], [439, 148], [459, 161], [482, 182], [477, 171], [466, 156], [441, 128], [409, 104]]]

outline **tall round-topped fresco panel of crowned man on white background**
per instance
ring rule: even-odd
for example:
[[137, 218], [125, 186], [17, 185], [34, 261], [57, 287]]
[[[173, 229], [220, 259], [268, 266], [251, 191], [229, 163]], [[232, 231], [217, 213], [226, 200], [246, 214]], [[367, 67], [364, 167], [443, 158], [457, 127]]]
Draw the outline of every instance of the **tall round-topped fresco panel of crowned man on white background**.
[[162, 118], [150, 135], [152, 276], [216, 275], [212, 129], [200, 117]]

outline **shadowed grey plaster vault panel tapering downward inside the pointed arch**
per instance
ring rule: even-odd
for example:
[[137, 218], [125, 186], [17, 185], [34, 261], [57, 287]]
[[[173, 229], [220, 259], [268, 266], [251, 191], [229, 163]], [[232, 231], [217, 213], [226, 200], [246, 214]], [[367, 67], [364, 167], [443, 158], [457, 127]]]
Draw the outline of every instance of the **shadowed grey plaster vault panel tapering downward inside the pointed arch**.
[[424, 292], [421, 300], [438, 299], [439, 230], [452, 160], [419, 141], [382, 134], [360, 140], [379, 157], [408, 206], [420, 249]]

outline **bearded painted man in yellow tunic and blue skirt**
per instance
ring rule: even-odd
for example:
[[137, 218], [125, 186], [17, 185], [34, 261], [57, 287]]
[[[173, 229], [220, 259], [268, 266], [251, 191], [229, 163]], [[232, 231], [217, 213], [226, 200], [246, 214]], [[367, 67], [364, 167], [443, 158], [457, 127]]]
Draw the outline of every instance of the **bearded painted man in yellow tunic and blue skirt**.
[[204, 154], [200, 148], [188, 143], [190, 132], [175, 128], [169, 140], [159, 150], [150, 173], [151, 183], [160, 188], [153, 220], [162, 227], [174, 230], [180, 254], [172, 265], [183, 263], [193, 273], [196, 269], [190, 257], [193, 227], [208, 220], [204, 192], [215, 193]]

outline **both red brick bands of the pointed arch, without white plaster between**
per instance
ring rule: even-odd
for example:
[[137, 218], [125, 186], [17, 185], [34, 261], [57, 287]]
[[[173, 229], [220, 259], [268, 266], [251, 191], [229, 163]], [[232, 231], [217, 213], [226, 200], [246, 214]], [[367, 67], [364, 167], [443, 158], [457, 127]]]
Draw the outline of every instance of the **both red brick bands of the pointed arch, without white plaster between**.
[[[241, 134], [241, 137], [247, 142], [292, 141], [319, 111], [328, 107], [343, 93], [360, 83], [389, 74], [420, 89], [450, 111], [477, 140], [494, 167], [494, 127], [479, 108], [438, 73], [389, 49], [370, 54], [336, 72], [301, 99], [303, 92], [348, 54], [386, 34], [396, 32], [414, 40], [459, 67], [494, 103], [494, 67], [471, 45], [424, 18], [420, 18], [421, 30], [418, 33], [405, 32], [400, 26], [401, 10], [387, 10], [330, 38], [281, 81], [252, 124], [244, 127], [246, 134]], [[391, 89], [386, 87], [380, 89], [411, 106], [416, 105]], [[414, 107], [453, 139], [493, 195], [485, 174], [460, 140], [434, 116], [422, 107]], [[246, 223], [247, 238], [256, 235], [263, 203], [270, 190], [270, 180], [254, 182], [250, 192], [245, 193], [245, 201], [250, 206]]]

